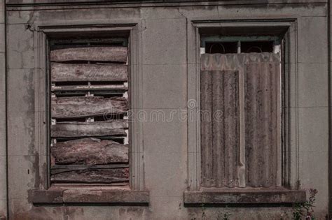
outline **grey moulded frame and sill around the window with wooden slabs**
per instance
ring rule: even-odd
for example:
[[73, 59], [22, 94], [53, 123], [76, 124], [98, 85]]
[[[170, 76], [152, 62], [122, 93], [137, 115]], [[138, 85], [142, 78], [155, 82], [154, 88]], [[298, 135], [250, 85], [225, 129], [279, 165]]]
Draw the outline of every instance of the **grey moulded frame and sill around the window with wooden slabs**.
[[[36, 189], [29, 192], [32, 203], [67, 203], [64, 196], [65, 192], [71, 192], [72, 200], [69, 203], [135, 203], [148, 204], [148, 191], [144, 188], [144, 161], [143, 161], [143, 144], [142, 144], [142, 124], [134, 120], [130, 123], [130, 187], [129, 189], [121, 189], [120, 187], [103, 186], [66, 186], [66, 187], [50, 187], [50, 148], [49, 138], [50, 131], [48, 126], [50, 122], [50, 112], [48, 112], [48, 38], [50, 36], [66, 36], [73, 34], [111, 34], [114, 31], [123, 31], [129, 33], [130, 39], [130, 109], [131, 117], [141, 108], [141, 36], [139, 35], [140, 22], [130, 20], [123, 22], [121, 20], [107, 24], [43, 24], [35, 23], [31, 30], [34, 31], [34, 56], [36, 71], [35, 86], [35, 127], [36, 127], [36, 148], [39, 149], [39, 173], [36, 178]], [[75, 190], [73, 190], [75, 189]], [[79, 189], [84, 189], [80, 191]], [[59, 194], [59, 192], [62, 192]], [[91, 193], [98, 192], [95, 197], [89, 198]], [[121, 194], [122, 193], [122, 194]], [[116, 195], [123, 195], [117, 198]], [[43, 195], [43, 196], [41, 196]], [[49, 196], [51, 195], [51, 196]], [[54, 199], [54, 195], [62, 195], [59, 200]], [[74, 195], [74, 196], [73, 196]], [[57, 196], [57, 197], [58, 197]], [[42, 197], [42, 199], [41, 199]], [[83, 199], [84, 198], [84, 199]], [[67, 200], [68, 201], [68, 200]]]

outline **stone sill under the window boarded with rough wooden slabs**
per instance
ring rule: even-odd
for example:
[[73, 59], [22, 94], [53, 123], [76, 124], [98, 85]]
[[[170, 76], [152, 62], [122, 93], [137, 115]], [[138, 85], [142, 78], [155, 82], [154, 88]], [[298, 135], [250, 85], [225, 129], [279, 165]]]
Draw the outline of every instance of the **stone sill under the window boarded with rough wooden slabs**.
[[50, 187], [48, 190], [34, 190], [29, 194], [34, 205], [54, 204], [88, 204], [104, 203], [109, 205], [138, 205], [149, 203], [148, 191], [130, 189], [107, 189], [107, 187]]

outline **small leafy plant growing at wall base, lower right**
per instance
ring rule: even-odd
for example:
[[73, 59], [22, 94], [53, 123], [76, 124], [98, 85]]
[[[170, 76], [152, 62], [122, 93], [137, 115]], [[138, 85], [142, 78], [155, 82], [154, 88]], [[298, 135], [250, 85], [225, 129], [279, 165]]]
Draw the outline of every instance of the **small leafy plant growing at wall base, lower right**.
[[310, 189], [310, 197], [305, 203], [296, 203], [293, 208], [293, 219], [300, 220], [314, 220], [314, 201], [316, 194], [318, 193], [317, 189]]

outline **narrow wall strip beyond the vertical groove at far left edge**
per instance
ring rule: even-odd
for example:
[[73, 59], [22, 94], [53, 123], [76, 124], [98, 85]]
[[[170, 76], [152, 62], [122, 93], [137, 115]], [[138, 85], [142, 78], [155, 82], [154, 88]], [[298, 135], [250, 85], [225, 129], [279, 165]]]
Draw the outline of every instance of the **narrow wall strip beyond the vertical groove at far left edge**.
[[0, 1], [0, 219], [7, 216], [5, 1]]

